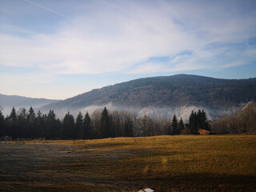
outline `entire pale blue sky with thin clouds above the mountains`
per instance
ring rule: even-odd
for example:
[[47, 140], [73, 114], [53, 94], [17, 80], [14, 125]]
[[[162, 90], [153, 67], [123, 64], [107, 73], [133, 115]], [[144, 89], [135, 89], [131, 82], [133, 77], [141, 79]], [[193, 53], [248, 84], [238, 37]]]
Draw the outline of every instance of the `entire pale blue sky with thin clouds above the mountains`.
[[256, 1], [0, 0], [0, 94], [173, 74], [256, 78]]

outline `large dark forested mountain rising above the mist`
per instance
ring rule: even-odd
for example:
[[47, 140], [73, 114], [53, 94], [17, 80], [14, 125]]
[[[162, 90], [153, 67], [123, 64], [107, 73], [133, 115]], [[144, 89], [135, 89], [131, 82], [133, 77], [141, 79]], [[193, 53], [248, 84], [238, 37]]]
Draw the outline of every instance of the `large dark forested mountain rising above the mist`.
[[[60, 102], [43, 106], [44, 110], [86, 110], [89, 106], [116, 106], [123, 109], [177, 110], [195, 106], [230, 110], [256, 100], [256, 78], [218, 79], [178, 74], [139, 78], [101, 89], [91, 90]], [[185, 108], [184, 108], [185, 109]]]

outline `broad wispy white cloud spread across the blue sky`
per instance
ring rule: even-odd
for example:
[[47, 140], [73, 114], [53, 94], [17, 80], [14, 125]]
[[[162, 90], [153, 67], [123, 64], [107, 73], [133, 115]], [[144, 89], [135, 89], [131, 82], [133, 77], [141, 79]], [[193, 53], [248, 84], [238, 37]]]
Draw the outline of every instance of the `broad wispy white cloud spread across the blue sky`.
[[[213, 42], [241, 42], [255, 34], [255, 12], [238, 14], [238, 5], [231, 9], [228, 3], [108, 5], [107, 9], [67, 19], [53, 34], [0, 34], [0, 65], [36, 66], [55, 74], [226, 68], [235, 65], [223, 64], [218, 57], [223, 54], [228, 58], [228, 54], [238, 51], [229, 46], [209, 50], [205, 47]], [[168, 63], [147, 62], [138, 66], [149, 58], [174, 56], [184, 50], [192, 50], [193, 54], [177, 56]], [[254, 51], [255, 48], [250, 50]], [[237, 58], [233, 54], [232, 63], [241, 63], [238, 56], [246, 55], [243, 52]]]

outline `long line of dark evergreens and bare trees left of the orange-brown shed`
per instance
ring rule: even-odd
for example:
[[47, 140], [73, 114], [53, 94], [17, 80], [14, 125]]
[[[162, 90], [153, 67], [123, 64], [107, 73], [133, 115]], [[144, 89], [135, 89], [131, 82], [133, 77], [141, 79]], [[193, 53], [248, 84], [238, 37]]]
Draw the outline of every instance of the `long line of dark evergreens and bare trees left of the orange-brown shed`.
[[206, 113], [192, 111], [188, 123], [174, 114], [172, 118], [150, 118], [129, 111], [95, 110], [74, 118], [69, 112], [62, 121], [54, 110], [48, 114], [37, 113], [30, 107], [13, 109], [6, 118], [0, 110], [0, 137], [46, 139], [93, 139], [114, 137], [144, 137], [154, 135], [198, 134], [198, 129], [210, 130]]

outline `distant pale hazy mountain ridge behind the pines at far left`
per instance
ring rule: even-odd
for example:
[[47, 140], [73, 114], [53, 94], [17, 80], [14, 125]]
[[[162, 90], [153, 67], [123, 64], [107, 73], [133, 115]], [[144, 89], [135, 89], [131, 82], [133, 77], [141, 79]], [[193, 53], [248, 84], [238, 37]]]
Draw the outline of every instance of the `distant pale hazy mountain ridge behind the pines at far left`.
[[30, 106], [38, 108], [40, 106], [45, 106], [51, 102], [58, 102], [59, 100], [46, 99], [46, 98], [26, 98], [17, 95], [6, 95], [0, 94], [0, 107], [4, 108], [3, 113], [9, 114], [11, 108], [14, 106], [16, 110], [18, 108], [24, 107], [28, 109]]

